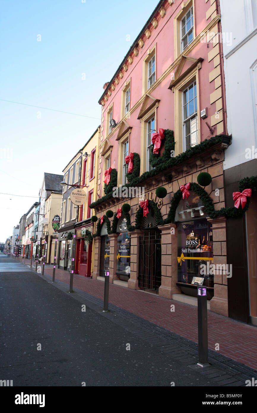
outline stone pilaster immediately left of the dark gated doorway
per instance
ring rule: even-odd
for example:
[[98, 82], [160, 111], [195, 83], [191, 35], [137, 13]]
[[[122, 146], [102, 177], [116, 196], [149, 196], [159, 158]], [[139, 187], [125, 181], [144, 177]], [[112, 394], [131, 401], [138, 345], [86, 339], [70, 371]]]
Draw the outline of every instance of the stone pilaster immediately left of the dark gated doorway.
[[132, 290], [139, 290], [139, 237], [143, 234], [144, 232], [141, 230], [134, 230], [130, 232], [130, 279], [127, 282], [127, 286]]

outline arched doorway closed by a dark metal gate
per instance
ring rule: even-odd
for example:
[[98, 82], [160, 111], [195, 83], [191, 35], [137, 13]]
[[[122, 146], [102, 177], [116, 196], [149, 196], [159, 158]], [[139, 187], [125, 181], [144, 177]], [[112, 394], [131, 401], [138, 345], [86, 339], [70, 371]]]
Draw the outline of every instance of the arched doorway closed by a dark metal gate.
[[153, 209], [142, 220], [144, 234], [139, 237], [139, 275], [141, 290], [158, 293], [161, 285], [161, 231], [157, 227]]

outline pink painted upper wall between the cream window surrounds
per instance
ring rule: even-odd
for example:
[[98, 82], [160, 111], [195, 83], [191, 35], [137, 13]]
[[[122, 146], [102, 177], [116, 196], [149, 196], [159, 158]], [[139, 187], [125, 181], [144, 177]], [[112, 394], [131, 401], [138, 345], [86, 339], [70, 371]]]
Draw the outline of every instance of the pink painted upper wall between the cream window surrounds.
[[[105, 102], [103, 107], [102, 116], [104, 116], [104, 122], [102, 123], [101, 131], [103, 132], [101, 142], [105, 139], [105, 126], [106, 126], [106, 116], [109, 105], [113, 104], [113, 119], [115, 119], [118, 124], [120, 121], [120, 104], [121, 104], [121, 93], [125, 85], [125, 82], [131, 78], [130, 84], [130, 108], [134, 106], [142, 97], [142, 76], [143, 76], [143, 59], [146, 57], [148, 50], [151, 49], [154, 44], [156, 44], [156, 80], [164, 73], [165, 70], [174, 62], [174, 17], [181, 10], [181, 0], [175, 0], [175, 2], [170, 6], [167, 1], [164, 2], [164, 7], [166, 14], [163, 18], [160, 17], [160, 14], [156, 13], [156, 19], [158, 20], [157, 28], [153, 28], [150, 24], [148, 27], [151, 31], [151, 36], [149, 39], [144, 36], [144, 46], [142, 48], [137, 46], [139, 54], [137, 57], [131, 53], [133, 58], [133, 63], [130, 65], [126, 62], [128, 66], [127, 72], [123, 71], [123, 78], [119, 77], [119, 84], [116, 85], [114, 91], [111, 90], [111, 84], [108, 85], [105, 92], [111, 90], [112, 94], [108, 98], [108, 101]], [[196, 26], [195, 36], [198, 36], [199, 33], [210, 23], [211, 18], [206, 20], [206, 12], [210, 8], [210, 1], [205, 3], [205, 0], [199, 1], [194, 0], [194, 23]], [[140, 29], [140, 28], [139, 28]], [[141, 37], [142, 38], [142, 37]], [[222, 45], [220, 45], [222, 47]], [[200, 105], [199, 109], [204, 109], [208, 107], [208, 118], [200, 119], [200, 140], [204, 140], [210, 135], [210, 131], [207, 128], [205, 122], [209, 124], [210, 116], [215, 114], [216, 105], [210, 104], [210, 93], [215, 91], [215, 82], [209, 83], [209, 72], [214, 69], [213, 61], [208, 62], [208, 53], [212, 50], [212, 43], [207, 47], [207, 43], [199, 43], [194, 49], [187, 55], [188, 57], [193, 57], [198, 59], [202, 57], [204, 60], [202, 62], [202, 68], [198, 71], [199, 77], [199, 97], [198, 103]], [[188, 62], [185, 63], [182, 73], [189, 67]], [[176, 69], [176, 68], [175, 68]], [[118, 70], [118, 68], [117, 68]], [[114, 75], [114, 74], [113, 74]], [[103, 78], [103, 83], [106, 79]], [[151, 95], [155, 98], [160, 99], [159, 107], [157, 109], [157, 119], [156, 119], [156, 129], [164, 128], [174, 130], [174, 93], [168, 89], [170, 85], [170, 75], [167, 76], [156, 89], [151, 92]], [[129, 152], [137, 152], [140, 155], [141, 147], [141, 122], [137, 119], [139, 107], [130, 115], [130, 118], [127, 119], [127, 123], [132, 127], [130, 134], [129, 142]], [[198, 119], [199, 121], [199, 119]], [[116, 141], [118, 130], [109, 138], [113, 149], [111, 152], [111, 167], [118, 169], [118, 141]], [[107, 134], [108, 135], [108, 134]], [[101, 164], [102, 166], [103, 164]], [[101, 168], [101, 173], [99, 178], [103, 177], [104, 169]], [[104, 193], [101, 193], [101, 186], [98, 193], [100, 196], [103, 196]]]

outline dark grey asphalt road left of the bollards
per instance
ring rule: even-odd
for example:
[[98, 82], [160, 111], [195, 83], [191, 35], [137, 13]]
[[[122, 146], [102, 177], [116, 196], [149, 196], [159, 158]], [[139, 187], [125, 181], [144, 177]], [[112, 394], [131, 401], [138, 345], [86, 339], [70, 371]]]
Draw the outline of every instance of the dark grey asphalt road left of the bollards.
[[83, 312], [82, 304], [83, 298], [0, 254], [0, 380], [13, 386], [217, 386], [99, 312]]

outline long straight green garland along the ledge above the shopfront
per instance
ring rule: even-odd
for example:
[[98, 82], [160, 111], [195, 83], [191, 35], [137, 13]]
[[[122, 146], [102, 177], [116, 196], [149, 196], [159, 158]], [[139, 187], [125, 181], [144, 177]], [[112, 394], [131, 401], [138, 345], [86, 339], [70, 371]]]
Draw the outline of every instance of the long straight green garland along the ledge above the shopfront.
[[[172, 131], [170, 131], [169, 129], [165, 129], [164, 133], [165, 132], [167, 133], [167, 131], [172, 133]], [[171, 135], [169, 134], [169, 136], [171, 136]], [[169, 169], [172, 166], [176, 166], [178, 164], [181, 164], [183, 161], [186, 161], [187, 159], [193, 157], [194, 155], [200, 154], [201, 152], [204, 152], [208, 148], [210, 148], [214, 145], [217, 145], [218, 143], [221, 143], [222, 139], [223, 139], [222, 136], [219, 136], [219, 135], [212, 136], [212, 138], [205, 139], [203, 142], [199, 143], [199, 145], [196, 145], [196, 146], [186, 150], [185, 152], [183, 152], [182, 154], [177, 155], [174, 158], [170, 157], [168, 159], [168, 156], [167, 156], [167, 159], [166, 159], [166, 155], [168, 155], [168, 151], [167, 151], [167, 153], [165, 154], [165, 160], [161, 161], [161, 159], [163, 157], [160, 157], [158, 159], [158, 164], [157, 164], [156, 168], [152, 169], [151, 171], [144, 172], [142, 175], [130, 180], [130, 182], [127, 183], [126, 185], [123, 185], [123, 187], [127, 187], [127, 188], [129, 186], [134, 186], [135, 187], [135, 186], [139, 185], [140, 183], [144, 182], [147, 178], [156, 176], [156, 175], [158, 175], [158, 173], [160, 173], [162, 171], [165, 171], [166, 169]], [[109, 182], [108, 187], [109, 187], [110, 183], [111, 183], [111, 181]], [[102, 202], [105, 202], [108, 199], [110, 199], [112, 197], [112, 188], [116, 185], [117, 185], [117, 181], [116, 181], [116, 184], [111, 187], [111, 192], [109, 192], [104, 197], [98, 199], [96, 202], [93, 202], [92, 204], [90, 204], [89, 207], [90, 208], [97, 207], [98, 205], [101, 205]]]

